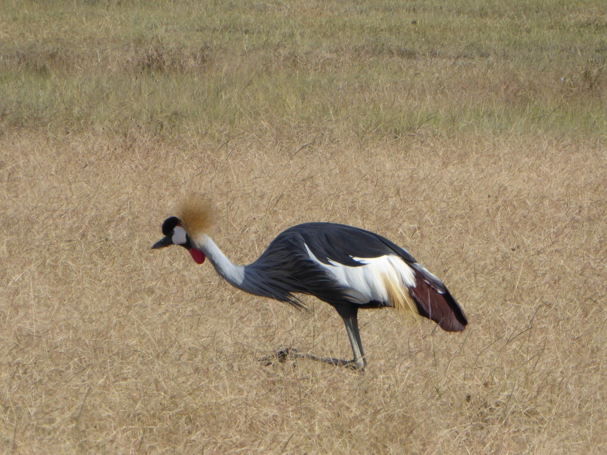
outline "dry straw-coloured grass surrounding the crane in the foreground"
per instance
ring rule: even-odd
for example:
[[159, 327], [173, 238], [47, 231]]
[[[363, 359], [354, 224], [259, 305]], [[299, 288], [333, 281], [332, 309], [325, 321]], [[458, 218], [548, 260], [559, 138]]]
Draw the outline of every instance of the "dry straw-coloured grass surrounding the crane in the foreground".
[[[605, 448], [602, 147], [310, 138], [219, 149], [2, 138], [0, 435], [8, 451], [521, 452]], [[251, 261], [299, 221], [395, 239], [449, 284], [464, 334], [365, 311], [364, 374], [265, 367], [280, 346], [349, 356], [341, 320], [151, 251], [185, 190]]]

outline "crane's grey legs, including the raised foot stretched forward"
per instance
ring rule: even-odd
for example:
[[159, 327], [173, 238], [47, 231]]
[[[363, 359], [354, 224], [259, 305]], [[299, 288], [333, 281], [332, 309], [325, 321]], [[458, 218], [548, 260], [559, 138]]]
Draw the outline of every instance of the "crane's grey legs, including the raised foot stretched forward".
[[358, 329], [358, 307], [348, 305], [337, 308], [337, 312], [339, 312], [339, 315], [341, 315], [344, 320], [345, 329], [348, 332], [348, 339], [350, 339], [350, 344], [352, 345], [354, 359], [342, 360], [335, 359], [334, 357], [320, 357], [315, 356], [314, 354], [308, 354], [307, 352], [298, 352], [297, 349], [294, 348], [287, 348], [277, 350], [274, 352], [274, 356], [263, 357], [260, 362], [265, 362], [265, 365], [269, 366], [274, 364], [274, 358], [280, 363], [286, 362], [288, 359], [303, 358], [316, 360], [317, 362], [330, 363], [331, 365], [336, 366], [347, 366], [348, 368], [364, 371], [367, 360], [362, 351], [361, 334]]

